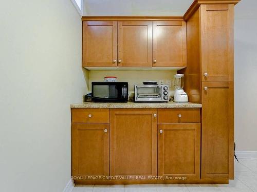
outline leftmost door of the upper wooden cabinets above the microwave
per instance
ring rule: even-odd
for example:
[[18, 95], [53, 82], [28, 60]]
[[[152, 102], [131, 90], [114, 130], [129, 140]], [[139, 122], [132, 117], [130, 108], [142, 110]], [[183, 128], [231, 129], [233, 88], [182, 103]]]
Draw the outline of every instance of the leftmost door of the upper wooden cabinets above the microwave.
[[117, 66], [117, 22], [83, 22], [83, 67]]

